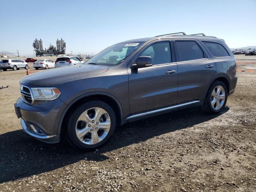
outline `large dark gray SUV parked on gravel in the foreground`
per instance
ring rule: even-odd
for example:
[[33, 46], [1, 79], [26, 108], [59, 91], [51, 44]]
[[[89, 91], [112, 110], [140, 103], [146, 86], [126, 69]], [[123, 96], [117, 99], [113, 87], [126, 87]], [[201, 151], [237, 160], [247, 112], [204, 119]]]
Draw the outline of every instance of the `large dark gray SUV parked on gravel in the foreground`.
[[117, 125], [182, 108], [221, 112], [236, 88], [224, 40], [166, 34], [114, 44], [84, 64], [24, 77], [15, 104], [26, 133], [47, 143], [102, 146]]

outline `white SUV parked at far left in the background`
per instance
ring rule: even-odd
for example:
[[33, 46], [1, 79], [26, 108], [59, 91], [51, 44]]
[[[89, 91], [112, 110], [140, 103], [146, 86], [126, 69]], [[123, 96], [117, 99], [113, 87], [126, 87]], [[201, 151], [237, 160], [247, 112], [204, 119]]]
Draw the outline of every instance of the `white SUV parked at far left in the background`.
[[19, 70], [20, 68], [28, 69], [28, 63], [20, 59], [4, 59], [0, 61], [0, 68], [3, 71], [7, 69], [12, 69], [14, 71]]

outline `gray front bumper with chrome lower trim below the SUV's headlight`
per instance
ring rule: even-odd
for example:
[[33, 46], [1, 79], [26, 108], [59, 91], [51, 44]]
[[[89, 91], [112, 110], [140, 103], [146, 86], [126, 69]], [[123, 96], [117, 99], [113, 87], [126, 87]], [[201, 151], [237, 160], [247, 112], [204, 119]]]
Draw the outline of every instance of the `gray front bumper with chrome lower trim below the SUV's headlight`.
[[62, 109], [65, 107], [66, 105], [59, 99], [28, 105], [22, 101], [22, 98], [19, 98], [14, 104], [16, 115], [21, 118], [23, 130], [30, 136], [46, 143], [60, 141], [58, 123]]

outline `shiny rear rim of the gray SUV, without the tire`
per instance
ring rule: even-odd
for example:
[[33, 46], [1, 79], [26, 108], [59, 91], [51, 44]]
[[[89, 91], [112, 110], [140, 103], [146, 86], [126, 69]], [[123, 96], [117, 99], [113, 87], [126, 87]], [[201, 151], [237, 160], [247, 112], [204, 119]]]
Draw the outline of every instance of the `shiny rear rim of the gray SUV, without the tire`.
[[225, 102], [225, 90], [222, 86], [216, 86], [212, 91], [211, 104], [215, 110], [222, 108]]

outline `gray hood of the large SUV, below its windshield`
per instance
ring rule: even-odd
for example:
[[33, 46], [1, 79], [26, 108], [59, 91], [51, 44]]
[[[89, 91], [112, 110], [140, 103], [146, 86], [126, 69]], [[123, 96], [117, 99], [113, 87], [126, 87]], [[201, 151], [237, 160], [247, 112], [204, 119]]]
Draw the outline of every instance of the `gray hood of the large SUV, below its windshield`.
[[25, 76], [20, 83], [28, 87], [56, 86], [64, 81], [102, 74], [108, 69], [109, 66], [92, 64], [67, 66]]

